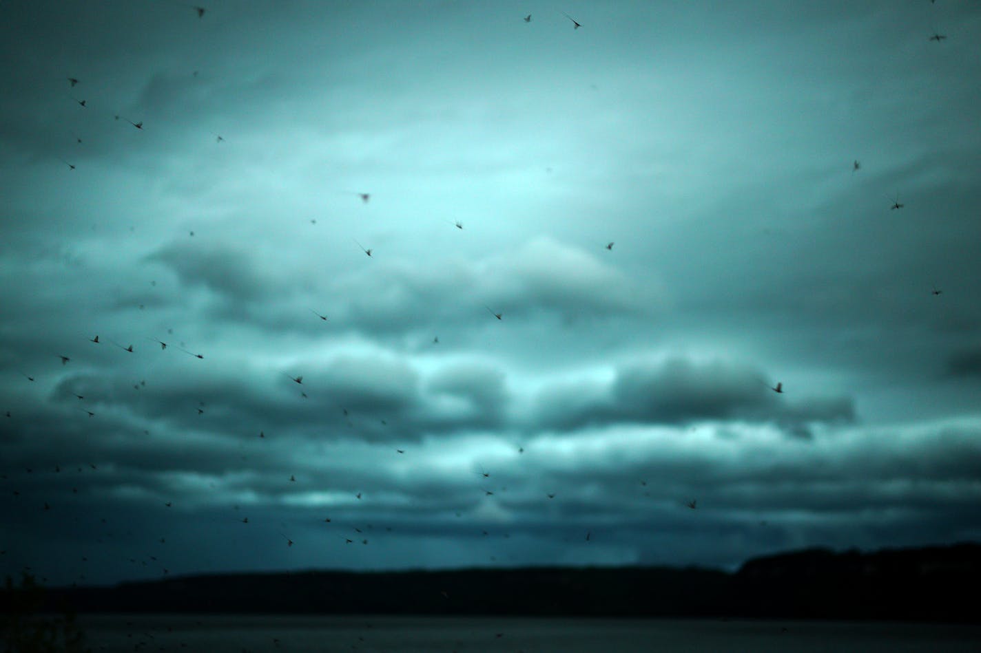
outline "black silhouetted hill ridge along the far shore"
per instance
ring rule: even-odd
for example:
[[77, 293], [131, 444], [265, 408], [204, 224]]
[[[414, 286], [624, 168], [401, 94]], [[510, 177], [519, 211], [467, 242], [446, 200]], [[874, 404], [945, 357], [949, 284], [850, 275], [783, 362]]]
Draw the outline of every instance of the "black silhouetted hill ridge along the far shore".
[[[750, 560], [699, 568], [530, 568], [230, 574], [56, 588], [79, 612], [732, 617], [977, 623], [981, 544]], [[0, 609], [16, 598], [0, 592]]]

